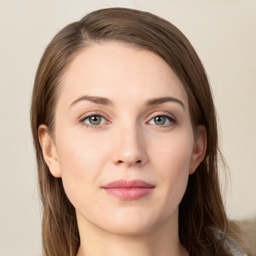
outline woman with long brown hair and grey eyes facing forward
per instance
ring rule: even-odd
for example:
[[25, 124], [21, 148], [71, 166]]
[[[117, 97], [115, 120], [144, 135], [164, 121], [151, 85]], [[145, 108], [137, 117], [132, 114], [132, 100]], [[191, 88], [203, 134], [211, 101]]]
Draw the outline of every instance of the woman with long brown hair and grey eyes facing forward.
[[94, 11], [58, 32], [31, 103], [45, 255], [242, 255], [204, 68], [168, 21]]

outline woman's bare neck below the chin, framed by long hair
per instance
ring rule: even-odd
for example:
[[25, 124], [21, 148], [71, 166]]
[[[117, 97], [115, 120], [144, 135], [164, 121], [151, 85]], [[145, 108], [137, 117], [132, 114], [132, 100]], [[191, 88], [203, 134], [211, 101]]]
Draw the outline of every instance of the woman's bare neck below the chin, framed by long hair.
[[[139, 234], [113, 234], [89, 222], [81, 226], [77, 215], [80, 247], [76, 256], [187, 256], [178, 238], [178, 222], [163, 221]], [[84, 222], [84, 221], [83, 221]]]

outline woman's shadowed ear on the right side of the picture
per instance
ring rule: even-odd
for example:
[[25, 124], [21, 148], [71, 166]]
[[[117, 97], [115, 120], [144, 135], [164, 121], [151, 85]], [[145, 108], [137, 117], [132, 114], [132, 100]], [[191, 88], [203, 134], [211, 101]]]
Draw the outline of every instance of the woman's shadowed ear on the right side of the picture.
[[207, 144], [206, 128], [204, 125], [197, 126], [197, 136], [194, 139], [193, 151], [189, 163], [189, 174], [194, 173], [197, 166], [203, 160]]

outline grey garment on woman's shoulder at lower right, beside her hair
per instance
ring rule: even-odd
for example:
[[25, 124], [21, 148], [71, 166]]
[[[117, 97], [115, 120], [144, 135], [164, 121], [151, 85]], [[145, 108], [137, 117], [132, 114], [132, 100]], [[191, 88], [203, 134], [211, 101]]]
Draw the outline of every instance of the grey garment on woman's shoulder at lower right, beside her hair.
[[[223, 235], [224, 233], [218, 230], [216, 237], [221, 239]], [[225, 240], [221, 246], [223, 247], [224, 251], [232, 256], [248, 256], [242, 249], [241, 245], [227, 234], [225, 235]]]

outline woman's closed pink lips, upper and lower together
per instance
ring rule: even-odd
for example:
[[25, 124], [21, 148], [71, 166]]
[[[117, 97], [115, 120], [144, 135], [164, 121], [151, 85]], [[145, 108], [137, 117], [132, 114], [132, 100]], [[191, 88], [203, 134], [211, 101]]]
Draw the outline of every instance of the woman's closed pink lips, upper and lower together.
[[112, 196], [123, 200], [135, 200], [150, 194], [155, 186], [143, 180], [118, 179], [103, 185], [104, 191]]

